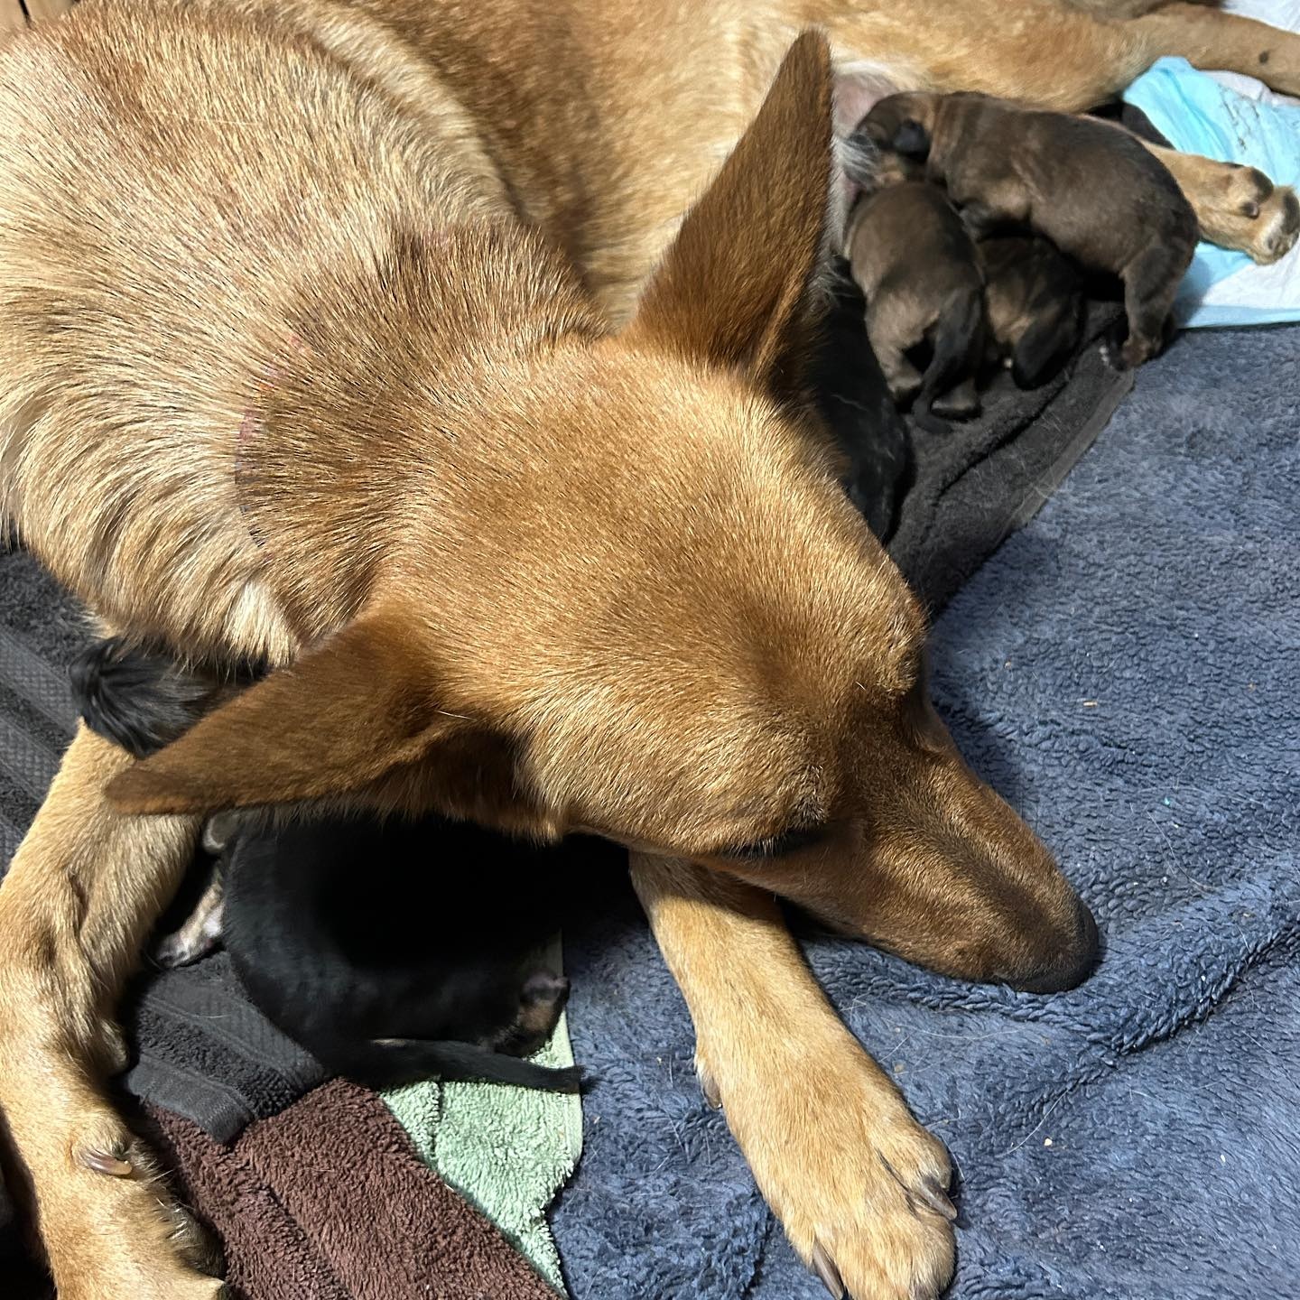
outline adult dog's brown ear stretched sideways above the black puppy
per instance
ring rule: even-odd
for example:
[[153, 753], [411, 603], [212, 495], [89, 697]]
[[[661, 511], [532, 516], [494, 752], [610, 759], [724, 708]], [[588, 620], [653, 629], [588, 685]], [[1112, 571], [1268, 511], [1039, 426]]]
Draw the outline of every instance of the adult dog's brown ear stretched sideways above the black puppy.
[[358, 619], [120, 774], [125, 812], [212, 812], [359, 789], [473, 729], [396, 619]]

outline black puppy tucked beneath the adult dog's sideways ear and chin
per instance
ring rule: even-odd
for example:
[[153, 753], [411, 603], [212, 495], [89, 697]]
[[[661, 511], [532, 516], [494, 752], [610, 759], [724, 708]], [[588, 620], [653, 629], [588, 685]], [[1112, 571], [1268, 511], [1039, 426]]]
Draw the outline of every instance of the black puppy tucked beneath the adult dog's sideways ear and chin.
[[[117, 641], [73, 670], [91, 729], [144, 757], [228, 685]], [[222, 814], [205, 833], [220, 879], [164, 952], [220, 932], [251, 1001], [326, 1070], [370, 1087], [438, 1075], [576, 1088], [520, 1060], [550, 1037], [568, 982], [546, 967], [559, 928], [546, 850], [430, 818], [276, 827]]]

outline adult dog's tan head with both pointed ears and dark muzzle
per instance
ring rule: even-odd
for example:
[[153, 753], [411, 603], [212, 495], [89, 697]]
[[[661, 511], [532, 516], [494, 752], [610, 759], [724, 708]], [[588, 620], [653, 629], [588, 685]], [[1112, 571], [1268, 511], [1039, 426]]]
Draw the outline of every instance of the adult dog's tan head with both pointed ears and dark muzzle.
[[464, 485], [459, 532], [408, 512], [354, 623], [114, 802], [351, 793], [585, 829], [956, 975], [1080, 978], [1091, 918], [930, 707], [920, 610], [806, 415], [831, 134], [806, 35], [633, 324], [562, 341], [503, 399], [526, 463]]

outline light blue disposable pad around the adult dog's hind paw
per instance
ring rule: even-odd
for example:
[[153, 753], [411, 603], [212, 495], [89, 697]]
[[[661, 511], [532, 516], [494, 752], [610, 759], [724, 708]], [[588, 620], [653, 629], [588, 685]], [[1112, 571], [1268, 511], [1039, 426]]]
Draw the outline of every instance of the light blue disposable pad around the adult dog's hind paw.
[[[1124, 100], [1176, 150], [1300, 185], [1300, 105], [1248, 99], [1186, 58], [1158, 60]], [[1300, 321], [1300, 246], [1273, 266], [1256, 266], [1243, 252], [1201, 243], [1174, 312], [1187, 326]]]

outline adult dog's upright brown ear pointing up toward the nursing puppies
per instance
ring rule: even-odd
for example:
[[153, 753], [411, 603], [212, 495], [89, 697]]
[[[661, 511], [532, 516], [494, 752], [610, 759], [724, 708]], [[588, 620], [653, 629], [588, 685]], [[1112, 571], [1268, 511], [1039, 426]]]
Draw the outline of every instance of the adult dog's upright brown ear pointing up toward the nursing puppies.
[[780, 398], [802, 391], [831, 202], [832, 90], [826, 38], [806, 31], [686, 213], [629, 341], [742, 369]]

